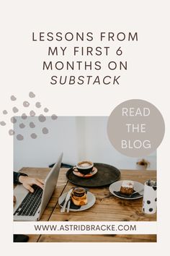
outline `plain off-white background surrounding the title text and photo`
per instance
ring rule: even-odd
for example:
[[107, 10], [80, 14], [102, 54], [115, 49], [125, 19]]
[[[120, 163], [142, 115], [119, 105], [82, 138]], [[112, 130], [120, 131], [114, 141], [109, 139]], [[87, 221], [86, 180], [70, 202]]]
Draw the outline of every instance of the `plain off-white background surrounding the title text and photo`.
[[[158, 148], [157, 244], [12, 244], [13, 147], [6, 127], [1, 136], [1, 251], [13, 255], [58, 253], [98, 255], [160, 255], [169, 249], [169, 1], [4, 1], [1, 3], [1, 111], [11, 108], [10, 95], [27, 98], [34, 91], [59, 116], [109, 116], [122, 101], [141, 98], [161, 111], [166, 135]], [[138, 43], [123, 43], [130, 63], [120, 86], [49, 87], [49, 74], [41, 71], [45, 46], [31, 42], [32, 31], [93, 30], [138, 31]], [[88, 98], [88, 104], [87, 104]], [[4, 188], [7, 192], [4, 193]], [[73, 249], [74, 248], [74, 249]], [[82, 249], [84, 248], [84, 249]], [[73, 250], [72, 250], [73, 249]], [[80, 250], [81, 249], [81, 250]]]

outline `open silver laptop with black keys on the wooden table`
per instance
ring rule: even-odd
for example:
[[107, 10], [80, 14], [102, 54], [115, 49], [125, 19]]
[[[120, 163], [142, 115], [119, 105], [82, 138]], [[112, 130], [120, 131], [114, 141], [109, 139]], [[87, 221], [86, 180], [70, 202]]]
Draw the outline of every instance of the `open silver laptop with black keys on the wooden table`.
[[56, 187], [62, 158], [63, 153], [59, 156], [58, 161], [46, 177], [44, 189], [41, 189], [37, 185], [33, 185], [34, 192], [31, 193], [25, 189], [22, 184], [15, 187], [14, 195], [17, 200], [14, 205], [14, 221], [40, 220]]

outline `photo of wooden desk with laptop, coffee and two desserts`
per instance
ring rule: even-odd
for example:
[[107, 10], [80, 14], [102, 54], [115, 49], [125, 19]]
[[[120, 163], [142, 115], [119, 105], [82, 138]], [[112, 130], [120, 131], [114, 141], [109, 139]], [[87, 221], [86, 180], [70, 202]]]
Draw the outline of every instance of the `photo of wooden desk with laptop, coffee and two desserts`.
[[[117, 152], [107, 137], [107, 116], [58, 116], [55, 119], [45, 116], [43, 121], [38, 116], [15, 118], [14, 195], [17, 187], [24, 186], [26, 196], [31, 194], [32, 197], [37, 188], [44, 186], [47, 176], [45, 189], [48, 190], [51, 171], [58, 171], [54, 191], [45, 207], [39, 210], [42, 213], [37, 219], [156, 221], [156, 206], [147, 208], [143, 205], [145, 182], [148, 186], [156, 186], [156, 152], [141, 158], [130, 158]], [[34, 189], [33, 193], [28, 192], [30, 187]], [[17, 196], [14, 201], [14, 220], [32, 218], [36, 208], [32, 210], [25, 203], [16, 208]], [[37, 203], [38, 208], [41, 205]], [[29, 234], [27, 240], [156, 242], [156, 234]]]

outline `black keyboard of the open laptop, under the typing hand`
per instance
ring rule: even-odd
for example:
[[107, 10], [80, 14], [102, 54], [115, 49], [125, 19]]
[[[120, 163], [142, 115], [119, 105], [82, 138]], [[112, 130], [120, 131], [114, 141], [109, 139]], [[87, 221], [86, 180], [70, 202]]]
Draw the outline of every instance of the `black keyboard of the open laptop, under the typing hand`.
[[24, 197], [24, 200], [14, 212], [14, 215], [17, 214], [17, 216], [35, 216], [37, 208], [39, 208], [41, 203], [43, 190], [37, 185], [33, 185], [32, 187], [34, 192], [29, 192], [26, 197]]

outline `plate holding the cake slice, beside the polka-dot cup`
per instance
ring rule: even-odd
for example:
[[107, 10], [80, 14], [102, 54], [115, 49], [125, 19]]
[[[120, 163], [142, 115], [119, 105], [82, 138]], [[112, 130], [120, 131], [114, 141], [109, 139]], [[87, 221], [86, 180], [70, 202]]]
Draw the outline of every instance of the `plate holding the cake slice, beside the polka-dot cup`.
[[[123, 181], [118, 181], [118, 182], [114, 182], [112, 183], [110, 186], [109, 186], [109, 192], [112, 193], [112, 195], [115, 195], [114, 191], [117, 191], [117, 192], [120, 192], [120, 187], [122, 185], [122, 182]], [[140, 191], [144, 189], [144, 185], [140, 182], [134, 182], [134, 190], [137, 192], [137, 191]], [[140, 192], [139, 193], [140, 195], [138, 197], [133, 197], [133, 198], [128, 198], [128, 197], [123, 197], [123, 196], [120, 196], [120, 195], [115, 195], [115, 197], [119, 197], [119, 198], [122, 198], [122, 199], [127, 199], [127, 200], [135, 200], [135, 199], [138, 199], [140, 197], [143, 197], [143, 192]]]

